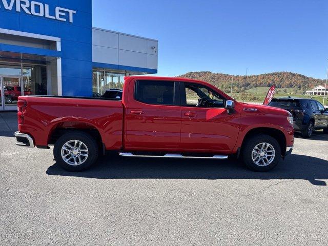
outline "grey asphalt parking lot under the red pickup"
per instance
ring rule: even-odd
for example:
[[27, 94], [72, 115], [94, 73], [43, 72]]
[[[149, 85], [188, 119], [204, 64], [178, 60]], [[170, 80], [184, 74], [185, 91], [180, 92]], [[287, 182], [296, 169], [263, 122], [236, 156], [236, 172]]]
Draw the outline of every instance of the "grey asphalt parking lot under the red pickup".
[[297, 134], [293, 154], [268, 173], [233, 160], [113, 155], [70, 173], [56, 165], [52, 149], [16, 147], [15, 125], [1, 117], [1, 245], [328, 241], [328, 135], [320, 131], [311, 139]]

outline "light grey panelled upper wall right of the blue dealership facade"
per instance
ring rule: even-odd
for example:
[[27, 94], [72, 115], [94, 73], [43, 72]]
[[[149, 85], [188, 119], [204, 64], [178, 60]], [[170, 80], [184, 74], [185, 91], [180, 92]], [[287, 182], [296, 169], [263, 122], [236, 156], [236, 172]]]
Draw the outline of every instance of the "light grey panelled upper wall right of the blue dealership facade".
[[157, 69], [157, 57], [157, 40], [92, 29], [92, 61], [95, 63]]

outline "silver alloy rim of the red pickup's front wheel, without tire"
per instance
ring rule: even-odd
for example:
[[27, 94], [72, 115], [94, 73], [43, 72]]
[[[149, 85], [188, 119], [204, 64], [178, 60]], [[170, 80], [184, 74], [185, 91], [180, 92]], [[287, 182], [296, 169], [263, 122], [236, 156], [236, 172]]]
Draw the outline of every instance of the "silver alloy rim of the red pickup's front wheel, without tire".
[[268, 142], [261, 142], [252, 151], [252, 159], [257, 166], [265, 167], [275, 158], [275, 149]]

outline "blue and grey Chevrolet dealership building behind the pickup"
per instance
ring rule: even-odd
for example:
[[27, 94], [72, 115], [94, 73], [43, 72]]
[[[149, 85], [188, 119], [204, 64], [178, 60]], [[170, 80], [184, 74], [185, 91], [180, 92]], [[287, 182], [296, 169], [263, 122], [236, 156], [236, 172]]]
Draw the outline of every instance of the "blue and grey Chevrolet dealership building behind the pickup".
[[18, 95], [100, 96], [157, 73], [158, 41], [92, 27], [91, 0], [0, 0], [0, 111]]

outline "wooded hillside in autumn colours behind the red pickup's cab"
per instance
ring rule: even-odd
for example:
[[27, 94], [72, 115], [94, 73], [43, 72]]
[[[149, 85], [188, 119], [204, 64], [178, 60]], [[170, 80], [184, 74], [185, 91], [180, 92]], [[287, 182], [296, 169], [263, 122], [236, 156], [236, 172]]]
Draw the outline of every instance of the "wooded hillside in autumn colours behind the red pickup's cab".
[[322, 79], [306, 77], [304, 75], [291, 72], [274, 72], [250, 76], [235, 76], [211, 72], [189, 72], [178, 77], [207, 81], [226, 92], [230, 91], [231, 80], [233, 78], [233, 88], [236, 93], [258, 86], [267, 87], [274, 84], [278, 88], [298, 88], [301, 89], [301, 91], [324, 84]]

